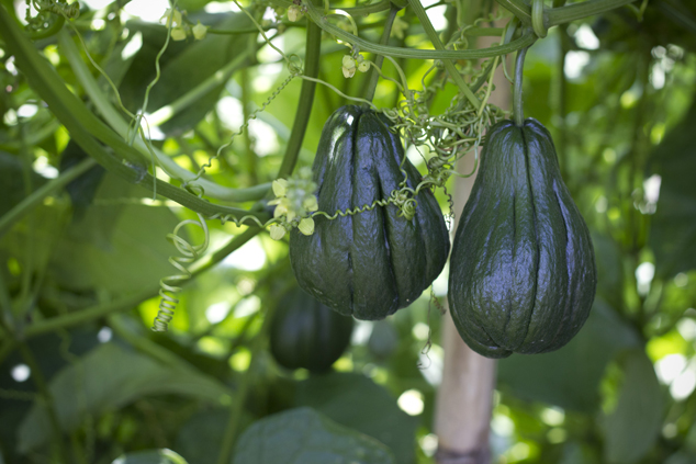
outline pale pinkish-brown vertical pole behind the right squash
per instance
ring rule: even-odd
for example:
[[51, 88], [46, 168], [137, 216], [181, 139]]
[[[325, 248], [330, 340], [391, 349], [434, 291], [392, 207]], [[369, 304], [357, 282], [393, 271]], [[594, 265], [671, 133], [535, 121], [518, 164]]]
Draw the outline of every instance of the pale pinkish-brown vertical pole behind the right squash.
[[[495, 37], [482, 37], [480, 47], [491, 46]], [[490, 102], [509, 109], [510, 86], [498, 68], [493, 79], [495, 92]], [[462, 173], [473, 169], [473, 156], [459, 161]], [[454, 185], [456, 225], [469, 199], [475, 176], [458, 179]], [[489, 431], [495, 388], [495, 361], [473, 352], [462, 341], [452, 318], [445, 315], [442, 326], [445, 365], [442, 384], [438, 392], [435, 411], [435, 432], [438, 435], [438, 464], [490, 464]]]

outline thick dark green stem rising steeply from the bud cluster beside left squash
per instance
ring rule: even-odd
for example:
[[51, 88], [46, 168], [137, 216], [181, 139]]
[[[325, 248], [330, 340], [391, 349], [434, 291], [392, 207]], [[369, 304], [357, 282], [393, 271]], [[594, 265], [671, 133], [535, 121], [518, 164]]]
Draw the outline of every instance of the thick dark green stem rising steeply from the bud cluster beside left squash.
[[[312, 21], [307, 21], [307, 36], [304, 55], [304, 76], [316, 78], [319, 75], [319, 58], [322, 55], [322, 30]], [[284, 179], [292, 173], [298, 163], [300, 149], [304, 133], [307, 129], [310, 115], [312, 114], [312, 104], [314, 103], [314, 89], [316, 82], [304, 79], [302, 81], [302, 90], [300, 90], [300, 101], [298, 103], [298, 112], [295, 121], [292, 124], [292, 133], [288, 140], [285, 155], [278, 171], [278, 179]]]

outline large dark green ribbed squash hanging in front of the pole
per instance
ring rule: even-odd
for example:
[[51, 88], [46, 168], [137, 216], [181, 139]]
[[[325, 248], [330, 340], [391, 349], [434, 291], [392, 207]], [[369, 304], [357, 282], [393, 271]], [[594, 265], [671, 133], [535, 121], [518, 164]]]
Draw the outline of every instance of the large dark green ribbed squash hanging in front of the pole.
[[595, 295], [587, 226], [539, 122], [494, 125], [481, 158], [450, 258], [452, 319], [487, 358], [557, 350], [581, 329]]

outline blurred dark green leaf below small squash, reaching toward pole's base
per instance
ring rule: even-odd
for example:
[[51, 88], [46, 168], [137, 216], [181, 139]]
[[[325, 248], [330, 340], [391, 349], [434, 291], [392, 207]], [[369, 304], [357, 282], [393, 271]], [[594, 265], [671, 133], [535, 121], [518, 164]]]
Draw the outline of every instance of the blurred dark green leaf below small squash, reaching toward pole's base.
[[310, 406], [336, 422], [386, 444], [400, 464], [415, 460], [418, 420], [405, 414], [384, 387], [352, 373], [313, 376], [296, 388], [296, 405]]

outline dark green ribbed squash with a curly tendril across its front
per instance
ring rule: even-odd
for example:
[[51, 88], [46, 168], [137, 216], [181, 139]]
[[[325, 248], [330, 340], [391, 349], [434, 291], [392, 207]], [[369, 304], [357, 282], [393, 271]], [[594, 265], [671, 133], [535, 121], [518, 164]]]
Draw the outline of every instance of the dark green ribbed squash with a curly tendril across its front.
[[[370, 205], [389, 199], [403, 181], [404, 149], [386, 120], [359, 106], [343, 106], [322, 132], [314, 181], [319, 211]], [[413, 189], [418, 170], [406, 159]], [[447, 261], [449, 237], [440, 207], [422, 191], [407, 220], [394, 205], [378, 206], [328, 220], [314, 216], [311, 236], [293, 230], [290, 261], [300, 286], [312, 296], [358, 319], [382, 319], [408, 306], [438, 276]]]

